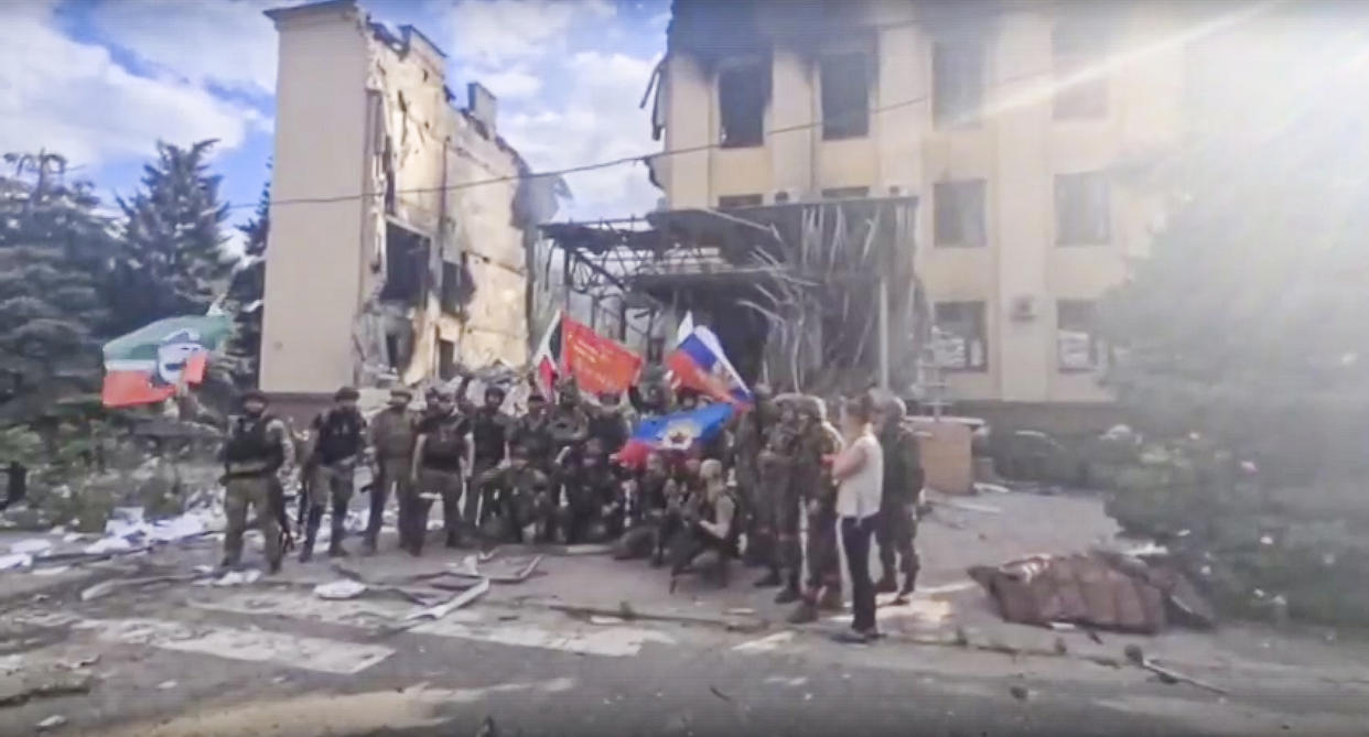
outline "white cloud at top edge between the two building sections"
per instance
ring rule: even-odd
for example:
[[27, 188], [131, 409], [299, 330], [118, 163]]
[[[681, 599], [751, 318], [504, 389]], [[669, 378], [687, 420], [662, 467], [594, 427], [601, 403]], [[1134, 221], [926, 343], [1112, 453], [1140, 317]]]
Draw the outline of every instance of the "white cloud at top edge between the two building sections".
[[490, 68], [560, 52], [571, 30], [612, 16], [606, 0], [461, 0], [448, 19], [452, 52]]

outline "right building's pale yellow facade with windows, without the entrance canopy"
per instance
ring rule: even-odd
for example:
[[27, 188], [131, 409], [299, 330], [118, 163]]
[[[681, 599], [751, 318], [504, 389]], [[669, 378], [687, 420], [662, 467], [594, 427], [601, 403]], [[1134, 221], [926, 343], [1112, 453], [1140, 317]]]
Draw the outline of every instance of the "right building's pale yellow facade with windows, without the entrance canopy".
[[[1135, 170], [1180, 130], [1183, 19], [1095, 10], [675, 0], [653, 179], [671, 211], [743, 219], [916, 197], [917, 247], [897, 249], [916, 283], [890, 290], [925, 290], [914, 351], [950, 397], [1106, 402], [1092, 305], [1161, 212]], [[909, 327], [890, 339], [919, 342]]]

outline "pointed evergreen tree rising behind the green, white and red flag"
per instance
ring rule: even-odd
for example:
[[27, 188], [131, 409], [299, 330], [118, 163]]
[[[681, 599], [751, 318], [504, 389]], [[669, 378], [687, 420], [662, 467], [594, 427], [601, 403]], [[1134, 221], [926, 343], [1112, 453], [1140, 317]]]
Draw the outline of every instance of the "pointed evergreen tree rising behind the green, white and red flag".
[[177, 314], [203, 313], [227, 286], [223, 253], [227, 205], [209, 174], [215, 141], [190, 148], [157, 142], [144, 167], [142, 190], [119, 200], [125, 243], [110, 278], [111, 332], [122, 334]]

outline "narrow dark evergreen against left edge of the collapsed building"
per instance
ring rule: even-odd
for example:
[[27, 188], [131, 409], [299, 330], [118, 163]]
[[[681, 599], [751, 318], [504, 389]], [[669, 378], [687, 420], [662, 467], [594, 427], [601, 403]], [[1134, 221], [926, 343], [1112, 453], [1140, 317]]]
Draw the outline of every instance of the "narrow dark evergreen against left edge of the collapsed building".
[[234, 335], [227, 347], [233, 380], [255, 387], [261, 356], [261, 298], [266, 294], [266, 239], [271, 223], [271, 180], [261, 186], [252, 220], [238, 226], [245, 237], [242, 260], [233, 272], [225, 309], [234, 314]]

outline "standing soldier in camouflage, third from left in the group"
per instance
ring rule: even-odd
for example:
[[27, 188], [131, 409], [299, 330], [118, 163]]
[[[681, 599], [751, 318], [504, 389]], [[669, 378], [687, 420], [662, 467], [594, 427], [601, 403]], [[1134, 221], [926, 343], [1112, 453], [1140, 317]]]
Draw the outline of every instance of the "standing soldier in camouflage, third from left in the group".
[[385, 524], [385, 503], [390, 498], [392, 487], [401, 513], [400, 547], [408, 548], [411, 543], [404, 535], [409, 529], [404, 513], [411, 511], [405, 500], [409, 498], [409, 465], [413, 462], [413, 443], [418, 440], [418, 417], [409, 410], [412, 398], [413, 392], [408, 387], [394, 387], [390, 390], [390, 406], [371, 420], [370, 442], [375, 465], [371, 472], [371, 514], [366, 521], [363, 539], [367, 555], [375, 554], [376, 539]]

